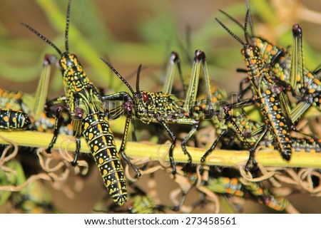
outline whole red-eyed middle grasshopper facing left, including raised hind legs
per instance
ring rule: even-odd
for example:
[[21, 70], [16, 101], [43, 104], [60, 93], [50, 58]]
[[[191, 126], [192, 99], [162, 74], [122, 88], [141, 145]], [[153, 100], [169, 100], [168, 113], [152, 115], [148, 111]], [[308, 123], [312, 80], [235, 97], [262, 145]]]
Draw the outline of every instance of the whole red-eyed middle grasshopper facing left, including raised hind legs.
[[[198, 90], [198, 81], [200, 76], [200, 67], [203, 65], [203, 71], [205, 76], [205, 83], [206, 85], [209, 84], [207, 66], [205, 62], [205, 53], [200, 50], [195, 51], [195, 58], [191, 73], [191, 82], [190, 86], [188, 87], [186, 93], [186, 100], [183, 105], [180, 104], [178, 98], [175, 98], [173, 95], [168, 95], [170, 93], [170, 89], [173, 86], [173, 79], [167, 78], [166, 83], [164, 85], [164, 91], [158, 93], [150, 93], [139, 88], [139, 75], [140, 75], [140, 68], [138, 68], [137, 80], [136, 80], [136, 92], [131, 88], [128, 82], [121, 76], [118, 71], [116, 71], [110, 63], [106, 60], [101, 58], [110, 68], [111, 70], [116, 73], [116, 76], [126, 84], [126, 86], [131, 90], [133, 96], [126, 92], [116, 93], [114, 95], [109, 95], [108, 100], [124, 100], [123, 105], [119, 106], [118, 108], [111, 110], [111, 118], [118, 118], [120, 115], [126, 112], [127, 119], [126, 119], [126, 127], [123, 136], [123, 142], [121, 145], [121, 151], [125, 149], [126, 141], [128, 140], [128, 128], [129, 128], [129, 121], [131, 116], [135, 115], [136, 118], [141, 120], [143, 123], [160, 123], [163, 128], [167, 131], [172, 144], [169, 150], [169, 157], [170, 157], [170, 165], [173, 168], [173, 174], [175, 174], [175, 162], [173, 158], [173, 148], [175, 147], [176, 136], [173, 134], [173, 131], [170, 130], [168, 123], [178, 123], [178, 124], [188, 124], [193, 125], [192, 129], [188, 133], [188, 135], [182, 141], [182, 149], [185, 154], [188, 155], [188, 163], [192, 161], [192, 157], [190, 157], [188, 151], [186, 150], [186, 142], [190, 139], [190, 137], [195, 133], [200, 123], [200, 119], [203, 116], [192, 116], [192, 110], [195, 107], [198, 107], [195, 104], [195, 97]], [[175, 64], [178, 63], [178, 69], [180, 71], [179, 65], [179, 58], [177, 53], [171, 53], [170, 57], [170, 64], [168, 67], [168, 76], [172, 76], [174, 74]], [[211, 94], [209, 90], [209, 86], [206, 86], [208, 100], [211, 99]], [[210, 103], [212, 105], [212, 103]], [[213, 108], [210, 108], [213, 110]], [[195, 113], [198, 114], [198, 113]], [[203, 115], [204, 113], [202, 113]], [[205, 115], [211, 115], [211, 113], [205, 113]]]

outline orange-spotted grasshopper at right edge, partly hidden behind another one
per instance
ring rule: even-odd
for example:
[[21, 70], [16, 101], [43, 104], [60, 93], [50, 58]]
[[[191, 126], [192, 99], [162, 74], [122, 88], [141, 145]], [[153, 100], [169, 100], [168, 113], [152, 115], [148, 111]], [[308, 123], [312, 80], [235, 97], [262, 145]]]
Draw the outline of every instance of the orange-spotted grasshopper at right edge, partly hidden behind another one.
[[[229, 19], [234, 21], [238, 26], [245, 29], [240, 22], [233, 19], [224, 11], [223, 14], [228, 16]], [[250, 31], [253, 33], [253, 24], [250, 19]], [[315, 71], [309, 71], [305, 68], [303, 63], [303, 48], [302, 48], [302, 28], [298, 24], [292, 27], [293, 43], [292, 51], [287, 51], [288, 48], [282, 48], [275, 43], [267, 41], [265, 38], [257, 36], [249, 36], [250, 43], [256, 46], [266, 64], [270, 66], [272, 73], [271, 77], [280, 86], [284, 86], [287, 90], [292, 92], [298, 100], [305, 101], [310, 105], [317, 107], [320, 110], [321, 103], [321, 68], [317, 68]], [[244, 70], [239, 70], [245, 72]], [[250, 89], [250, 86], [243, 89], [243, 83], [248, 82], [245, 79], [240, 84], [240, 97]], [[300, 110], [300, 114], [305, 112], [309, 108], [309, 105], [305, 105], [305, 108]]]

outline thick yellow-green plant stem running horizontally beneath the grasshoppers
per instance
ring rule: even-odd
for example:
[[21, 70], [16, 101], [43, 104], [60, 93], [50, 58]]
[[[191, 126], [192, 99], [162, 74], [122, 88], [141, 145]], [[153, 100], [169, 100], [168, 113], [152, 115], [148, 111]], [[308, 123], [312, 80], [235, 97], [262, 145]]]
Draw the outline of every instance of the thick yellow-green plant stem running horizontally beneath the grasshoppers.
[[[16, 145], [26, 147], [48, 147], [52, 134], [37, 133], [27, 131], [16, 132], [0, 132], [0, 144], [11, 144], [6, 141], [16, 142]], [[121, 141], [116, 140], [116, 146], [120, 147]], [[59, 135], [54, 145], [54, 149], [59, 147], [64, 150], [68, 146], [68, 150], [76, 150], [76, 143], [73, 137], [67, 135]], [[126, 146], [126, 154], [129, 157], [148, 157], [150, 160], [162, 160], [165, 153], [168, 153], [170, 145], [155, 145], [143, 142], [128, 142]], [[199, 164], [200, 157], [205, 153], [204, 149], [188, 147], [190, 155], [193, 157], [193, 163]], [[90, 152], [86, 141], [81, 139], [81, 152]], [[180, 146], [177, 145], [174, 150], [175, 162], [187, 162], [188, 157], [184, 155]], [[206, 159], [206, 165], [220, 165], [233, 167], [240, 162], [248, 159], [248, 151], [246, 150], [215, 150]], [[276, 150], [262, 150], [257, 153], [257, 160], [263, 166], [277, 167], [312, 167], [321, 168], [320, 152], [292, 152], [290, 162], [282, 160], [279, 152]], [[168, 161], [168, 155], [165, 157]]]

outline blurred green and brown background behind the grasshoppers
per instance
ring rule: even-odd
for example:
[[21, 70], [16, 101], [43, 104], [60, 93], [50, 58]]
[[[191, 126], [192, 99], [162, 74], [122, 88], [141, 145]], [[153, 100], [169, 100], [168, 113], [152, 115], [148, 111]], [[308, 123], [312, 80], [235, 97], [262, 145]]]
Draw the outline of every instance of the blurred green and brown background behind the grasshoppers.
[[[286, 47], [292, 44], [292, 25], [300, 23], [305, 39], [306, 66], [311, 70], [319, 66], [320, 1], [253, 0], [250, 4], [256, 36], [266, 37]], [[66, 6], [67, 0], [0, 0], [1, 88], [35, 92], [44, 54], [57, 53], [21, 26], [19, 21], [34, 27], [64, 51]], [[99, 59], [103, 56], [124, 77], [131, 77], [131, 85], [135, 81], [138, 65], [142, 63], [141, 88], [158, 91], [170, 51], [180, 53], [184, 63], [183, 73], [188, 78], [193, 53], [199, 48], [207, 55], [211, 78], [229, 92], [237, 91], [243, 76], [236, 73], [235, 69], [245, 67], [240, 55], [241, 46], [214, 18], [218, 17], [241, 38], [244, 37], [243, 31], [220, 14], [219, 9], [243, 23], [246, 12], [243, 0], [73, 0], [69, 51], [76, 53], [88, 77], [97, 86], [111, 91], [126, 90]], [[61, 74], [54, 71], [49, 98], [62, 94]], [[63, 205], [68, 212], [89, 212], [93, 202], [101, 198], [104, 192], [106, 194], [96, 169], [91, 174], [94, 178], [88, 178], [87, 182], [91, 188], [77, 195], [80, 201], [61, 196], [55, 199], [58, 206]], [[164, 178], [162, 182], [165, 180], [165, 177], [158, 178]], [[290, 200], [295, 206], [302, 205], [302, 212], [321, 212], [318, 207], [320, 199], [300, 196], [294, 202]], [[83, 204], [84, 199], [90, 201], [88, 205]], [[307, 202], [317, 206], [304, 207]], [[266, 212], [263, 207], [249, 205], [245, 207], [245, 212]]]

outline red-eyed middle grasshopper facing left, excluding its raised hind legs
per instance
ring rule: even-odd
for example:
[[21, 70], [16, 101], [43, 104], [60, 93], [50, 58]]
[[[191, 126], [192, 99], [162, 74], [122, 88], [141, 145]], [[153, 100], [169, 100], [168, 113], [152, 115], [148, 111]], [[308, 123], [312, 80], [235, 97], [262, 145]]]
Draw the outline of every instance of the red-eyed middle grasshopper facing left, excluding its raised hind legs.
[[118, 78], [125, 83], [125, 85], [129, 88], [132, 95], [126, 92], [116, 93], [114, 95], [109, 95], [108, 100], [124, 100], [123, 105], [118, 108], [111, 110], [111, 118], [118, 118], [120, 115], [126, 113], [126, 124], [125, 131], [123, 135], [123, 141], [121, 144], [121, 151], [125, 150], [126, 142], [128, 140], [128, 129], [130, 120], [133, 115], [141, 120], [143, 123], [159, 123], [166, 130], [168, 135], [170, 136], [170, 140], [172, 141], [169, 150], [170, 157], [170, 165], [173, 168], [173, 174], [175, 175], [175, 162], [173, 158], [173, 149], [176, 143], [176, 136], [173, 131], [170, 129], [169, 123], [177, 123], [177, 124], [187, 124], [193, 125], [193, 128], [190, 130], [186, 138], [182, 142], [182, 149], [185, 154], [188, 155], [188, 162], [192, 162], [192, 157], [190, 157], [188, 151], [186, 150], [185, 143], [188, 139], [195, 133], [198, 128], [198, 120], [193, 120], [190, 118], [187, 109], [185, 106], [182, 106], [178, 103], [178, 99], [175, 98], [174, 95], [168, 95], [167, 93], [158, 92], [151, 93], [144, 90], [140, 90], [139, 88], [139, 78], [141, 72], [141, 66], [138, 68], [137, 79], [136, 79], [136, 92], [131, 88], [128, 82], [121, 76], [118, 71], [116, 71], [110, 63], [108, 63], [105, 59], [101, 58], [111, 70], [118, 76]]

